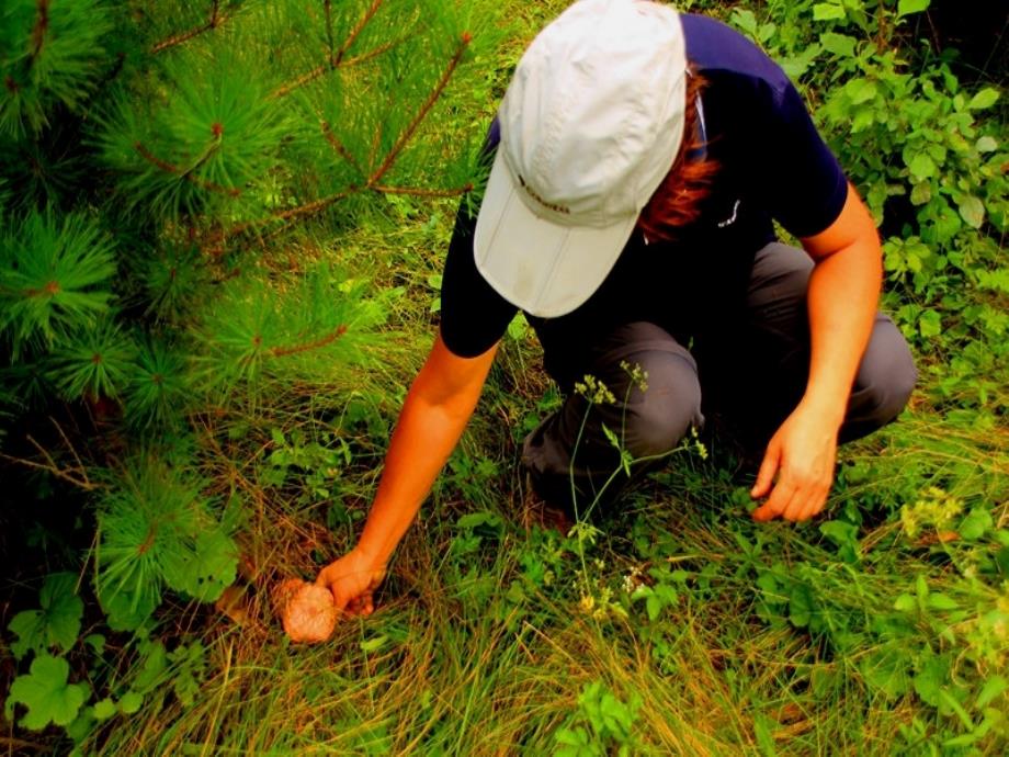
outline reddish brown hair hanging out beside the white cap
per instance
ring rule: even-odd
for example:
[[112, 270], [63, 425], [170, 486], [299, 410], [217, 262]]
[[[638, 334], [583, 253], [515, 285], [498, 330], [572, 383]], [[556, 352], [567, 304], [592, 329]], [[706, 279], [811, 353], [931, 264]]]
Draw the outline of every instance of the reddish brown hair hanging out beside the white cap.
[[683, 112], [683, 143], [669, 173], [642, 208], [637, 225], [648, 239], [671, 240], [677, 229], [698, 219], [701, 201], [711, 191], [718, 163], [706, 157], [688, 157], [702, 150], [704, 144], [698, 131], [698, 109], [694, 103], [704, 91], [703, 77], [691, 71], [687, 77], [687, 108]]

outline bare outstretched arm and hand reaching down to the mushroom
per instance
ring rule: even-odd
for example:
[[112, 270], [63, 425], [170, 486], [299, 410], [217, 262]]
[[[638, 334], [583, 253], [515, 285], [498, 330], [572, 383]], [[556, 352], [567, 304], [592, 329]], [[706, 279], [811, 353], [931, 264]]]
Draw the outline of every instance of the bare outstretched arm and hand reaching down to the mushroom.
[[476, 358], [460, 358], [441, 336], [435, 339], [404, 402], [361, 539], [316, 579], [330, 588], [338, 610], [372, 611], [372, 592], [466, 428], [496, 352], [497, 344]]

